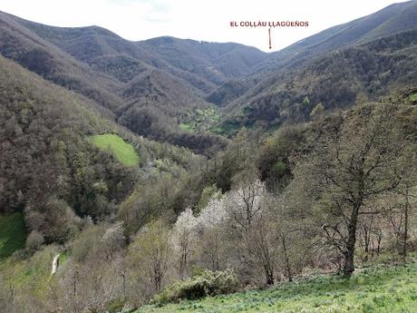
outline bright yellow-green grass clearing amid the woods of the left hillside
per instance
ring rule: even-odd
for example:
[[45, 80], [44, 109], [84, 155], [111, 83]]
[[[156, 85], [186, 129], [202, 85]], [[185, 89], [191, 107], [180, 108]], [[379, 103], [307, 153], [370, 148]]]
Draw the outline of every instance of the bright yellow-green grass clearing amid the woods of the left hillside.
[[99, 149], [111, 152], [123, 165], [134, 166], [139, 163], [139, 155], [131, 144], [116, 134], [95, 135], [91, 141]]

